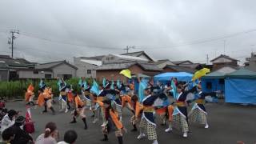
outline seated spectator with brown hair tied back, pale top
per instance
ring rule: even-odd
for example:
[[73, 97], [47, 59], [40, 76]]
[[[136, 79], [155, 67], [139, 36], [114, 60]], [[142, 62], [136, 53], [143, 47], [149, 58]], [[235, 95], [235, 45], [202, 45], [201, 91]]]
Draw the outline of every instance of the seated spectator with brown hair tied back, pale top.
[[57, 144], [58, 130], [54, 122], [46, 124], [45, 133], [38, 136], [35, 144]]

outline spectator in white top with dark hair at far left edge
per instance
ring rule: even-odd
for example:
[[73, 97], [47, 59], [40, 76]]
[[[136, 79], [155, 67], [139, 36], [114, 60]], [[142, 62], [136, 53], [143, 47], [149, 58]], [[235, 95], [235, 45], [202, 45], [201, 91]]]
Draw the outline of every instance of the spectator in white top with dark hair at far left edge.
[[17, 117], [18, 112], [15, 110], [9, 110], [8, 113], [2, 118], [1, 121], [1, 133], [3, 130], [6, 130], [8, 127], [14, 125], [15, 118]]

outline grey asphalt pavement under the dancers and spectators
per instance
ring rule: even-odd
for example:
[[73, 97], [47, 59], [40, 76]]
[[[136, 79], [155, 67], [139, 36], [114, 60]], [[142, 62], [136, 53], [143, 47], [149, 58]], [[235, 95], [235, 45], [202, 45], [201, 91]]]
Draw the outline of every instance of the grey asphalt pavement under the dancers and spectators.
[[[24, 102], [7, 102], [8, 109], [22, 110], [25, 114], [26, 108]], [[58, 111], [58, 104], [54, 105]], [[44, 126], [47, 122], [56, 122], [60, 133], [60, 140], [66, 130], [76, 130], [78, 140], [76, 143], [88, 144], [114, 144], [118, 143], [114, 133], [109, 135], [109, 142], [101, 142], [102, 131], [100, 125], [102, 122], [93, 123], [91, 112], [86, 111], [88, 130], [83, 129], [82, 120], [78, 118], [78, 123], [70, 124], [72, 116], [70, 112], [52, 115], [50, 112], [42, 114], [42, 107], [37, 109], [31, 108], [32, 118], [35, 122], [36, 131], [33, 134], [37, 138], [44, 131]], [[171, 133], [166, 133], [164, 130], [167, 126], [157, 127], [158, 143], [159, 144], [235, 144], [238, 140], [246, 142], [246, 144], [256, 143], [256, 106], [238, 106], [225, 102], [207, 103], [206, 110], [208, 111], [209, 129], [204, 129], [204, 126], [190, 125], [190, 133], [188, 138], [182, 138], [182, 134], [178, 130], [173, 130]], [[124, 110], [123, 124], [126, 126], [128, 133], [124, 135], [125, 144], [150, 144], [152, 142], [147, 139], [138, 140], [138, 132], [130, 132], [130, 112]], [[157, 118], [158, 121], [158, 118]], [[159, 121], [158, 121], [159, 124]]]

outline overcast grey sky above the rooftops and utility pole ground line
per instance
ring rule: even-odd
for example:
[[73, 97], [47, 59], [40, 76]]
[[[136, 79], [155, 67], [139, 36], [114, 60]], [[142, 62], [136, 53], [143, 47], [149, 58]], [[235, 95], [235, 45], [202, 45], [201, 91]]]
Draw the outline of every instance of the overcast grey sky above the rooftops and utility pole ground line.
[[14, 56], [32, 62], [121, 54], [126, 46], [154, 59], [206, 62], [206, 54], [225, 52], [244, 62], [256, 51], [256, 1], [1, 0], [0, 54], [10, 54], [11, 29], [20, 31]]

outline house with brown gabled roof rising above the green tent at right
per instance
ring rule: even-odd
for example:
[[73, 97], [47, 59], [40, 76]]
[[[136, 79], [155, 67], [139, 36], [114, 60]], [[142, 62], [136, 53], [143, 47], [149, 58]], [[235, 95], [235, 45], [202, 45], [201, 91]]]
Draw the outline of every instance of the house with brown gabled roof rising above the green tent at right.
[[234, 58], [230, 58], [227, 55], [221, 54], [217, 58], [214, 58], [210, 62], [213, 63], [213, 70], [218, 70], [223, 66], [233, 66], [238, 67], [238, 60]]

